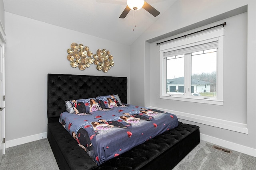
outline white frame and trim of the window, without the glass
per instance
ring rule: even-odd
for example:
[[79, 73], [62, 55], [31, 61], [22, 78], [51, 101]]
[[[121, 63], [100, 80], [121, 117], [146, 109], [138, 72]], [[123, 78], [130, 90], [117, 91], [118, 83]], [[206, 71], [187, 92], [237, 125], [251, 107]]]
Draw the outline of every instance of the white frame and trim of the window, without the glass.
[[[166, 92], [166, 58], [163, 54], [168, 51], [174, 51], [178, 49], [183, 49], [186, 47], [192, 47], [194, 45], [200, 45], [204, 43], [209, 43], [213, 41], [218, 41], [217, 50], [217, 97], [198, 97], [191, 96], [188, 94], [167, 94]], [[159, 46], [160, 51], [160, 98], [168, 100], [179, 100], [186, 102], [196, 102], [203, 104], [214, 104], [223, 105], [223, 47], [224, 47], [224, 28], [216, 29], [214, 31], [208, 31], [200, 35], [195, 35], [193, 37], [188, 37], [179, 41], [174, 41], [172, 43], [167, 43]], [[190, 59], [188, 59], [190, 60]], [[191, 67], [191, 61], [185, 61], [185, 67]], [[188, 65], [190, 64], [190, 66]], [[190, 69], [191, 72], [191, 69]], [[190, 73], [191, 75], [191, 73]], [[185, 75], [184, 84], [191, 81], [191, 76]], [[191, 84], [191, 82], [190, 82]], [[189, 86], [190, 87], [190, 86]], [[185, 89], [184, 89], [185, 90]], [[190, 90], [190, 89], [187, 89]]]

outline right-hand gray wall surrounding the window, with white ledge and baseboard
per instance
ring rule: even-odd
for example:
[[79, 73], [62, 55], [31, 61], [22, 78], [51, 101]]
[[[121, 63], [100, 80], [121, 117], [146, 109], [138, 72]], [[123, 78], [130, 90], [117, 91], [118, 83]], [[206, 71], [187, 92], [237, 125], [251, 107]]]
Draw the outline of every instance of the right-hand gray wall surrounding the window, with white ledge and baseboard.
[[[255, 9], [254, 0], [176, 1], [131, 45], [138, 54], [131, 56], [138, 61], [131, 65], [131, 104], [177, 113], [180, 121], [200, 126], [202, 139], [256, 156]], [[160, 99], [156, 42], [224, 21], [224, 106]]]

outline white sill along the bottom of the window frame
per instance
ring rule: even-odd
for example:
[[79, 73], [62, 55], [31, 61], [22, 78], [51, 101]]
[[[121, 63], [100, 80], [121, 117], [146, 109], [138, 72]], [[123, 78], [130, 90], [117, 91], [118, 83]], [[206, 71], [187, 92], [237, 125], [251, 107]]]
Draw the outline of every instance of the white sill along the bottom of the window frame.
[[214, 105], [222, 105], [223, 100], [214, 100], [214, 99], [204, 99], [204, 98], [186, 98], [184, 96], [163, 96], [159, 95], [160, 99], [168, 99], [168, 100], [178, 100], [183, 102], [194, 102], [194, 103], [202, 103], [202, 104], [214, 104]]

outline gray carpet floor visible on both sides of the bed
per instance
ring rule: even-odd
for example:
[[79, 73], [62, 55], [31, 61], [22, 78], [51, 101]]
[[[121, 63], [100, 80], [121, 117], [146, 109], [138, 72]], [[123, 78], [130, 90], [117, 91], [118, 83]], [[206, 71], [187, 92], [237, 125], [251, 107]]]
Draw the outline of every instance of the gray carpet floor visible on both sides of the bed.
[[[201, 140], [173, 170], [256, 170], [256, 157], [233, 150], [226, 153], [212, 146]], [[0, 164], [0, 170], [58, 169], [47, 139], [6, 149]]]

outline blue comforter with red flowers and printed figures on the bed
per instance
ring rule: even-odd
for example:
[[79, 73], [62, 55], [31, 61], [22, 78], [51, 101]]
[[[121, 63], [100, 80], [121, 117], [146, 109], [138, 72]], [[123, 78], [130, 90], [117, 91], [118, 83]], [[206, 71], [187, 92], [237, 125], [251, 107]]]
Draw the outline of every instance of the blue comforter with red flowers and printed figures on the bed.
[[178, 126], [174, 114], [128, 104], [88, 114], [63, 112], [60, 121], [98, 165]]

